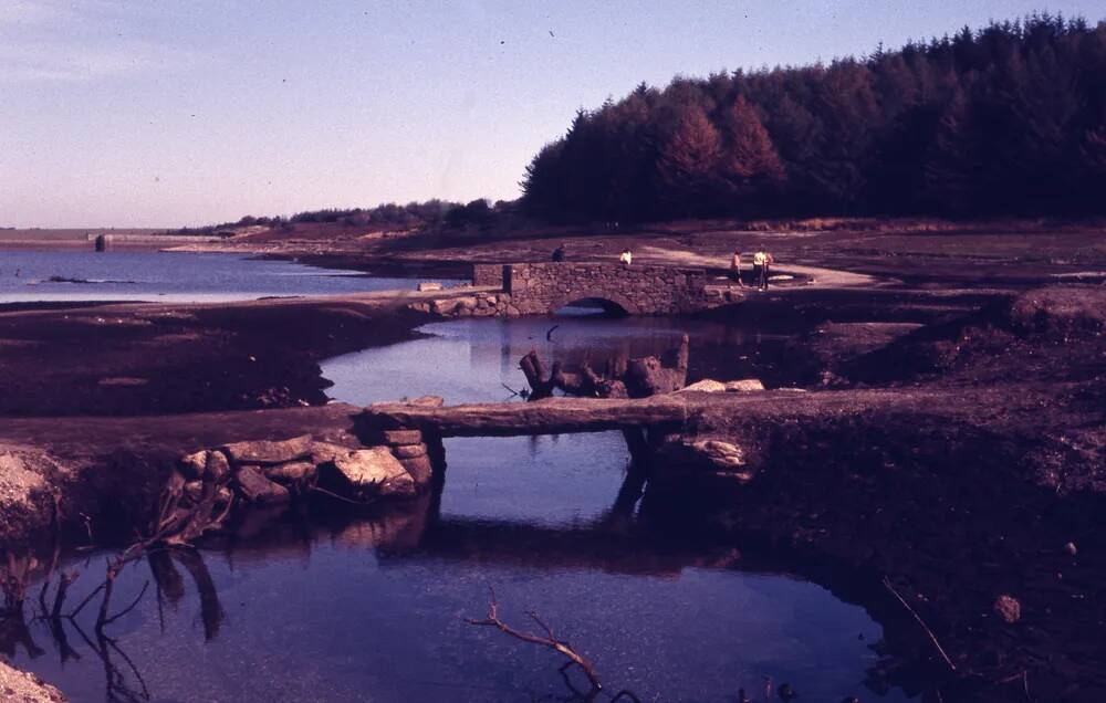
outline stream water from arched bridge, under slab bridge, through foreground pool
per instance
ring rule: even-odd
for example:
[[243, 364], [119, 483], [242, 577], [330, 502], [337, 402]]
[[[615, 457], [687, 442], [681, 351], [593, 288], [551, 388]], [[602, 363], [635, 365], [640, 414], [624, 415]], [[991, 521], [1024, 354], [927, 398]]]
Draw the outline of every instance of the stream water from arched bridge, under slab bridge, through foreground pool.
[[[459, 321], [424, 332], [432, 336], [324, 364], [331, 395], [501, 400], [504, 384], [524, 385], [517, 360], [531, 347], [598, 363], [662, 350], [684, 332], [692, 354], [720, 336], [738, 343], [734, 354], [763, 343], [648, 318]], [[446, 453], [442, 493], [409, 508], [254, 515], [198, 556], [135, 564], [117, 608], [154, 585], [108, 628], [114, 644], [92, 634], [94, 608], [79, 618], [88, 642], [65, 627], [80, 659], [62, 661], [45, 622], [0, 644], [75, 701], [119, 686], [161, 702], [560, 700], [557, 657], [463, 621], [484, 616], [492, 586], [502, 617], [526, 628], [523, 610], [535, 609], [608, 686], [644, 701], [733, 701], [739, 686], [763, 691], [765, 675], [805, 701], [906, 700], [864, 684], [880, 628], [862, 608], [614, 508], [629, 461], [618, 433], [453, 439]], [[76, 601], [102, 578], [103, 558], [70, 566], [87, 569]]]

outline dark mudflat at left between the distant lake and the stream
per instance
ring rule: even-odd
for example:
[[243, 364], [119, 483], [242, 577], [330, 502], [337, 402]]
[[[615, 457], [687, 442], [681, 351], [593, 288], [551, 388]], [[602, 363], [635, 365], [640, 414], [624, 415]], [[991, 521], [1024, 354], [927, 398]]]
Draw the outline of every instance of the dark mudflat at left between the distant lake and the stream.
[[428, 319], [406, 308], [417, 295], [0, 313], [0, 415], [163, 415], [323, 403], [326, 382], [319, 361], [410, 338]]

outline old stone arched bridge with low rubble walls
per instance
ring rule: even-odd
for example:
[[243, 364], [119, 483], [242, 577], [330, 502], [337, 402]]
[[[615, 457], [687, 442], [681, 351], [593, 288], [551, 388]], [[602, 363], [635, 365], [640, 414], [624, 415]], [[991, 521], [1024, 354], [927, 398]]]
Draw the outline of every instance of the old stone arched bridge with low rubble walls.
[[415, 303], [439, 315], [545, 315], [572, 303], [625, 315], [676, 315], [738, 302], [740, 288], [705, 269], [606, 262], [476, 264], [467, 294]]

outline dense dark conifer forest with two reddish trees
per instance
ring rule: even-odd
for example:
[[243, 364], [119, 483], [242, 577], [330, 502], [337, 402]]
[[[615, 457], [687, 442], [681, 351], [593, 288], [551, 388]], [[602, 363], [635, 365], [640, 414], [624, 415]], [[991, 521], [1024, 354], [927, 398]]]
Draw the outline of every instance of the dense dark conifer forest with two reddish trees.
[[553, 220], [1104, 213], [1106, 21], [643, 83], [581, 109], [522, 188]]

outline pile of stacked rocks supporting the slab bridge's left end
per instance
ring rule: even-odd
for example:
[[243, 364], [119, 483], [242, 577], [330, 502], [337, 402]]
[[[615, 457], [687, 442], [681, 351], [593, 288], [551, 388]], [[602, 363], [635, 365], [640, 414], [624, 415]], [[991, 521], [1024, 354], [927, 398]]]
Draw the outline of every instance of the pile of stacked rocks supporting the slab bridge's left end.
[[375, 447], [316, 442], [311, 434], [233, 442], [182, 457], [174, 481], [182, 484], [185, 507], [212, 492], [220, 502], [282, 504], [315, 486], [359, 502], [415, 495], [432, 473], [421, 433], [389, 436]]

